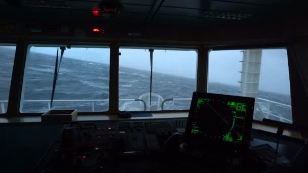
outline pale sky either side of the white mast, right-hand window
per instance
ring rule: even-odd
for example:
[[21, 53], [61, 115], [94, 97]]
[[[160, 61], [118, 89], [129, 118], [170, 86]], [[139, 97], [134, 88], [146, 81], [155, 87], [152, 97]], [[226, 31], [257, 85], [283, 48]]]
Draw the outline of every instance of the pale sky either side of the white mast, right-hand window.
[[[243, 53], [211, 51], [209, 81], [240, 85]], [[263, 50], [261, 57], [259, 90], [290, 95], [288, 57], [285, 49]]]

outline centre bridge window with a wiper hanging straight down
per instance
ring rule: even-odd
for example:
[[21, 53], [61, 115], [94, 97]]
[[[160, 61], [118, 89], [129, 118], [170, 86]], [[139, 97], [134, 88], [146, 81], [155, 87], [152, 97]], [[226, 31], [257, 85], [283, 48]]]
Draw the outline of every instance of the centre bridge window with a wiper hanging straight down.
[[197, 86], [196, 51], [121, 48], [120, 52], [119, 110], [189, 109]]

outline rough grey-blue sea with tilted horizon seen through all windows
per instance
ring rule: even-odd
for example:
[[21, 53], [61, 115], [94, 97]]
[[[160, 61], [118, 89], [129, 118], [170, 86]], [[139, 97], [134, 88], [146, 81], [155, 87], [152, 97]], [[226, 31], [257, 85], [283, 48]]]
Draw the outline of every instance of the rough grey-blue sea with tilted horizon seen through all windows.
[[[8, 104], [15, 50], [0, 47], [0, 56], [0, 108], [4, 113]], [[50, 109], [55, 59], [55, 56], [34, 52], [27, 57], [22, 85], [21, 112], [46, 112]], [[56, 81], [52, 109], [78, 109], [79, 112], [107, 111], [109, 77], [109, 64], [67, 58], [64, 53]], [[187, 110], [191, 95], [196, 90], [196, 83], [192, 78], [154, 71], [152, 101], [149, 105], [150, 72], [120, 66], [119, 110], [144, 110], [142, 101], [146, 104], [145, 110], [162, 110], [162, 101], [167, 99], [174, 100], [166, 101], [164, 110]], [[240, 95], [237, 91], [239, 86], [208, 83], [209, 93]], [[291, 105], [290, 96], [287, 95], [259, 91], [258, 98]], [[270, 106], [270, 112], [267, 113], [292, 120], [290, 107], [275, 103], [271, 103]], [[267, 108], [267, 102], [258, 100], [255, 119], [261, 120]], [[283, 120], [275, 116], [270, 118]], [[290, 123], [290, 121], [285, 122]]]

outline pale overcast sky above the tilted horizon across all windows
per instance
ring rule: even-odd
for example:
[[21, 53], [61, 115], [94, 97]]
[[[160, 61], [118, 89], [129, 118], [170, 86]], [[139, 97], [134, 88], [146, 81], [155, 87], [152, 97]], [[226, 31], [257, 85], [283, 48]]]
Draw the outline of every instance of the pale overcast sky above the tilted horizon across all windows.
[[[57, 48], [31, 47], [30, 52], [56, 56]], [[121, 67], [150, 70], [148, 50], [120, 49]], [[109, 49], [72, 48], [64, 57], [109, 64]], [[209, 59], [209, 81], [239, 86], [243, 53], [236, 51], [211, 51]], [[287, 51], [284, 49], [263, 50], [261, 58], [259, 90], [290, 95]], [[195, 78], [197, 67], [196, 51], [155, 50], [153, 71]]]

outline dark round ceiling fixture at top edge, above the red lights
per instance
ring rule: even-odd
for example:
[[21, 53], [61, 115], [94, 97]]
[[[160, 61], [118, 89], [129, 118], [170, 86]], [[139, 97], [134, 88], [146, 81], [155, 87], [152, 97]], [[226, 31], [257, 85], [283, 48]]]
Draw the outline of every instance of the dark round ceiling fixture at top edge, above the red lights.
[[102, 17], [119, 17], [123, 6], [118, 1], [105, 0], [97, 5]]

